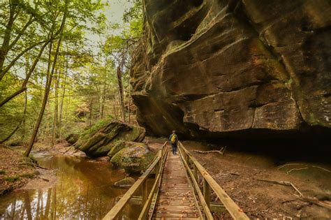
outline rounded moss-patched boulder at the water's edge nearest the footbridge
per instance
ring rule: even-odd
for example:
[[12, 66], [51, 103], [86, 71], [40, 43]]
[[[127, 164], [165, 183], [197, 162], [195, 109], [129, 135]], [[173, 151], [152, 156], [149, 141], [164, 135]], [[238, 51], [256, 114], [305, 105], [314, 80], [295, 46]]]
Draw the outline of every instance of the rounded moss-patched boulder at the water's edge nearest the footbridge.
[[154, 158], [148, 146], [138, 142], [126, 142], [125, 145], [127, 147], [112, 156], [110, 162], [119, 168], [124, 168], [126, 173], [138, 174], [145, 171]]

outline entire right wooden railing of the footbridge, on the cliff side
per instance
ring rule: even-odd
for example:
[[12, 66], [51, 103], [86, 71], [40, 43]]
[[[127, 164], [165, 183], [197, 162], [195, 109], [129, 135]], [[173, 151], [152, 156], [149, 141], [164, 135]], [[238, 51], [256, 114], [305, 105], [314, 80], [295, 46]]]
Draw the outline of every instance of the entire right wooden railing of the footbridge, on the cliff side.
[[[190, 154], [190, 152], [182, 145], [182, 142], [179, 142], [179, 152], [180, 156], [182, 156], [182, 161], [184, 166], [191, 177], [191, 181], [193, 182], [193, 188], [198, 194], [198, 198], [203, 207], [203, 211], [205, 214], [205, 219], [213, 219], [211, 213], [211, 201], [210, 195], [211, 190], [216, 193], [217, 198], [221, 201], [221, 204], [226, 208], [226, 210], [230, 213], [230, 215], [234, 219], [249, 219], [244, 212], [240, 209], [240, 207], [235, 204], [235, 202], [228, 196], [228, 194], [217, 184], [217, 182], [212, 178], [212, 176], [207, 173], [207, 170], [200, 165], [198, 161]], [[193, 165], [193, 170], [189, 167], [189, 164]], [[198, 175], [203, 178], [203, 193], [200, 190], [200, 186], [198, 184]]]

